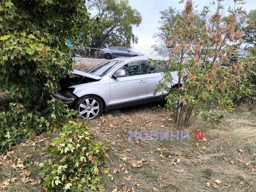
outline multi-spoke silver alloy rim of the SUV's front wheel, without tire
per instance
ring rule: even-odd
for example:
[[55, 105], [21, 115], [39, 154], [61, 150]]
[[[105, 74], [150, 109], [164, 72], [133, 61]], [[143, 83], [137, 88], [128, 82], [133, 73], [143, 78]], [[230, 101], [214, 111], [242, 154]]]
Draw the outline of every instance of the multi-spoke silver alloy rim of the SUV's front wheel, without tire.
[[98, 115], [99, 103], [95, 99], [87, 98], [79, 105], [79, 114], [85, 119], [92, 119]]

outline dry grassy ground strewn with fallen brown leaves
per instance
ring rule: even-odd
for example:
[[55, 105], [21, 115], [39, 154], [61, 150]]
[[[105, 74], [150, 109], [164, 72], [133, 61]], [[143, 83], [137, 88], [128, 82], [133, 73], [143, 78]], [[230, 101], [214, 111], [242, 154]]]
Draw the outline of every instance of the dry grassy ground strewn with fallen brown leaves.
[[[248, 106], [237, 108], [219, 126], [211, 126], [199, 117], [193, 117], [187, 127], [189, 141], [138, 142], [134, 139], [128, 141], [129, 130], [132, 133], [135, 130], [175, 132], [177, 128], [172, 120], [168, 120], [169, 112], [156, 104], [126, 108], [122, 112], [120, 117], [108, 115], [92, 121], [79, 120], [87, 122], [96, 140], [110, 143], [111, 150], [101, 168], [103, 191], [256, 189], [256, 110]], [[195, 130], [204, 131], [204, 141], [195, 141]], [[14, 146], [6, 158], [0, 155], [0, 183], [10, 179], [9, 185], [1, 190], [44, 191], [37, 164], [48, 158], [43, 151], [56, 136], [44, 134], [35, 137]], [[105, 169], [108, 173], [104, 173]], [[17, 179], [12, 182], [12, 178]]]

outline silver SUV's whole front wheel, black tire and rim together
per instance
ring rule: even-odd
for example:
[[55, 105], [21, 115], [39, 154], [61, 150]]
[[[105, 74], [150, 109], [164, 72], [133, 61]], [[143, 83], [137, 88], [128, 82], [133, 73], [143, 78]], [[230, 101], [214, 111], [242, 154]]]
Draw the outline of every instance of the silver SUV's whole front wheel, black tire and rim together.
[[76, 100], [74, 108], [82, 118], [95, 119], [102, 114], [103, 103], [96, 95], [85, 95]]

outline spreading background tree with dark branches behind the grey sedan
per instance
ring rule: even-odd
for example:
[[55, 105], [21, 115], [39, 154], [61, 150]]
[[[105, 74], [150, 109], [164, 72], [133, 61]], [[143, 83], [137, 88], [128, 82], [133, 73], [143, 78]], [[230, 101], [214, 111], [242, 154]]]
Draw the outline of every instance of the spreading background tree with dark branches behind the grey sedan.
[[[138, 43], [138, 37], [132, 32], [132, 26], [138, 27], [141, 15], [136, 9], [128, 5], [128, 0], [92, 0], [90, 9], [100, 15], [104, 30], [100, 35], [89, 35], [89, 46], [92, 48], [105, 48], [109, 46], [123, 46], [131, 48], [132, 43]], [[95, 49], [90, 50], [94, 57]]]

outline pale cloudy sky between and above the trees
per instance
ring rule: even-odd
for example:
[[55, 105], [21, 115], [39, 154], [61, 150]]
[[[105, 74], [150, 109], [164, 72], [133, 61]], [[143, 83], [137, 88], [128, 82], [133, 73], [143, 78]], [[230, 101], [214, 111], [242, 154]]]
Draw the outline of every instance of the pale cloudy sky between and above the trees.
[[[129, 5], [132, 8], [137, 9], [141, 16], [142, 22], [139, 27], [133, 27], [133, 33], [138, 36], [138, 44], [133, 44], [132, 50], [140, 52], [142, 54], [150, 55], [152, 52], [151, 46], [156, 44], [156, 39], [153, 39], [153, 35], [159, 32], [158, 27], [160, 24], [160, 11], [167, 9], [169, 6], [173, 6], [177, 10], [183, 10], [184, 4], [179, 4], [180, 0], [129, 0]], [[202, 10], [204, 5], [209, 6], [212, 0], [193, 0], [194, 5], [197, 6], [197, 10]], [[233, 6], [233, 0], [224, 0], [222, 2], [225, 5], [226, 10], [228, 6]], [[247, 0], [243, 8], [249, 12], [252, 9], [256, 9], [256, 0]]]

